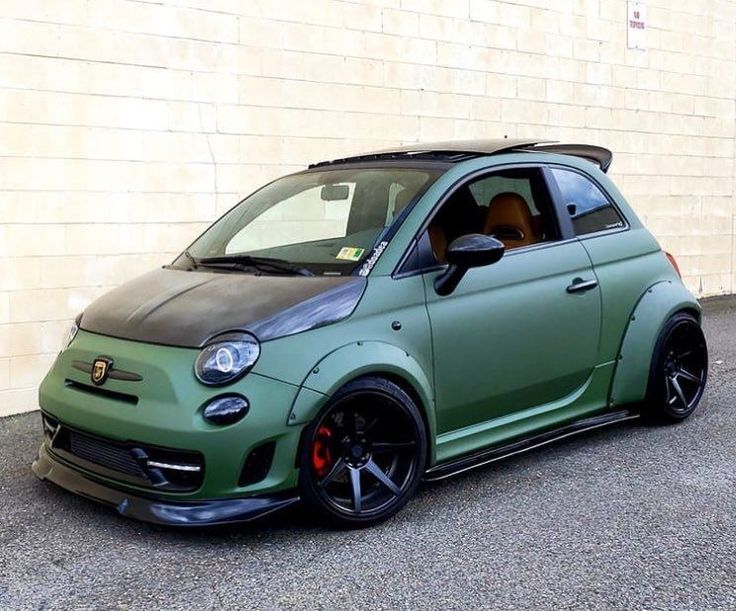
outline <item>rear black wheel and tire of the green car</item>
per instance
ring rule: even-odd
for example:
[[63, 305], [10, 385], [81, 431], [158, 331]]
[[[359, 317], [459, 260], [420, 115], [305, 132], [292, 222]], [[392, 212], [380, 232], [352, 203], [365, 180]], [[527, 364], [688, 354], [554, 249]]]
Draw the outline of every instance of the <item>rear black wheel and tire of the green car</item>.
[[708, 348], [698, 321], [675, 314], [662, 329], [652, 358], [645, 415], [680, 422], [695, 411], [708, 377]]

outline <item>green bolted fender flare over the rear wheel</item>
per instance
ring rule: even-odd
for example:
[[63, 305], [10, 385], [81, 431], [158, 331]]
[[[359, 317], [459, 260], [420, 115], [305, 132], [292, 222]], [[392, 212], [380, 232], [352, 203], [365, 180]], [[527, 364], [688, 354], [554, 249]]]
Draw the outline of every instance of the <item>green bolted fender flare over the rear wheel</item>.
[[700, 320], [700, 305], [679, 282], [657, 282], [639, 297], [629, 315], [619, 348], [609, 405], [625, 405], [644, 399], [657, 338], [667, 320], [682, 310], [697, 313]]

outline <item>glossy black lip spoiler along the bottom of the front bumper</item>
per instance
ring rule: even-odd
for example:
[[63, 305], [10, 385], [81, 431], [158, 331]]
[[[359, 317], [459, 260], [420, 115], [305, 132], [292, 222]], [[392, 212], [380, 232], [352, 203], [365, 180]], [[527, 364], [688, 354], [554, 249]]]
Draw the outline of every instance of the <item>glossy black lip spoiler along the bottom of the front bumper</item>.
[[38, 450], [31, 467], [42, 480], [53, 482], [80, 496], [113, 506], [127, 518], [167, 526], [214, 526], [248, 522], [299, 501], [294, 491], [271, 496], [212, 501], [169, 501], [135, 496], [110, 488], [67, 467], [49, 454], [46, 445]]

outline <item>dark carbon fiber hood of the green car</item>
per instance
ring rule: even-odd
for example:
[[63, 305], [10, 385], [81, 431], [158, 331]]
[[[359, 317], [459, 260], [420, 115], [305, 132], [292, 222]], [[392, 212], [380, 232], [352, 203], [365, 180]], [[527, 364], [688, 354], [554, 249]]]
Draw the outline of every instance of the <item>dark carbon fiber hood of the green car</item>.
[[81, 328], [155, 344], [200, 347], [235, 329], [268, 341], [349, 316], [365, 288], [356, 276], [256, 276], [157, 269], [94, 301]]

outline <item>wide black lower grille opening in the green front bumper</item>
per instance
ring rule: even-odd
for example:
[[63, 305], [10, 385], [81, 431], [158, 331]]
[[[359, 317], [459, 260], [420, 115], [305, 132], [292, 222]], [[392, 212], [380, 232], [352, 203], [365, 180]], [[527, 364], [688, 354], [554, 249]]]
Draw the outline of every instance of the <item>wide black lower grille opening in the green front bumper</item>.
[[43, 428], [54, 454], [120, 482], [190, 492], [204, 480], [204, 458], [199, 452], [114, 441], [72, 429], [47, 414], [43, 414]]

